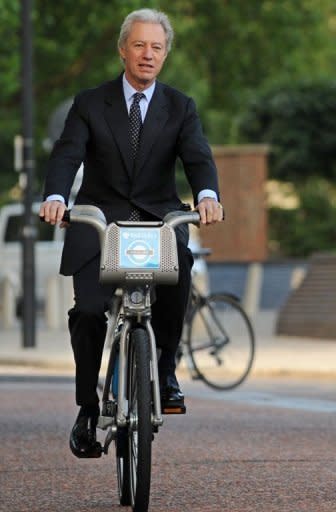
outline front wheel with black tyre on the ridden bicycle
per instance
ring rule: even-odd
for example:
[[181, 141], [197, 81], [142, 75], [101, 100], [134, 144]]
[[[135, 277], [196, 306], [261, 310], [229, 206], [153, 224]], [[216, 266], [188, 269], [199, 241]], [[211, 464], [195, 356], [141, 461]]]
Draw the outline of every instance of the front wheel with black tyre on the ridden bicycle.
[[141, 328], [131, 333], [128, 401], [131, 506], [134, 512], [146, 512], [150, 495], [152, 457], [151, 380], [149, 341], [146, 331]]

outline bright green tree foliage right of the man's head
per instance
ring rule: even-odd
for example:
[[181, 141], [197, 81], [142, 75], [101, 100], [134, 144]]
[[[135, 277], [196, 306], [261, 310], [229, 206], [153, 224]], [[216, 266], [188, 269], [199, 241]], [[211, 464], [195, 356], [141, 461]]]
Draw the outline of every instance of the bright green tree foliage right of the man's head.
[[[235, 117], [279, 78], [332, 76], [335, 4], [330, 0], [175, 0], [179, 48], [204, 74], [202, 112], [213, 143], [236, 142]], [[309, 37], [307, 37], [309, 34]], [[217, 113], [215, 116], [214, 113]]]

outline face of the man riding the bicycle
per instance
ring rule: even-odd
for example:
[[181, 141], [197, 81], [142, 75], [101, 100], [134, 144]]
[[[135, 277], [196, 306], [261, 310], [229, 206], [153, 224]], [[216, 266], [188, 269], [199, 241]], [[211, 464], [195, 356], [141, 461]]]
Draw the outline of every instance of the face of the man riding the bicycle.
[[125, 75], [137, 90], [149, 87], [167, 56], [166, 36], [158, 23], [135, 22], [123, 48], [119, 49]]

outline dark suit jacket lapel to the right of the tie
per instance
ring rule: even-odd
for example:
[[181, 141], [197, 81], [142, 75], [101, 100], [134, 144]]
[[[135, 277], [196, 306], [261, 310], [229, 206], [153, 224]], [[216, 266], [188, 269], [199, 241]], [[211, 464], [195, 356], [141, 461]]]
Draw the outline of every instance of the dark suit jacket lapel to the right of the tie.
[[142, 127], [134, 175], [145, 165], [146, 159], [163, 126], [166, 124], [168, 117], [167, 100], [163, 94], [161, 84], [157, 83]]

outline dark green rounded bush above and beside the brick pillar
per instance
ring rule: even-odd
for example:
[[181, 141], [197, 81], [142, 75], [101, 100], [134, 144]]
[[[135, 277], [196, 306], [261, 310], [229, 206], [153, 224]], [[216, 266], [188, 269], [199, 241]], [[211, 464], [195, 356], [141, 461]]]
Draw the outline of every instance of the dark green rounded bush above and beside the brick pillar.
[[240, 121], [241, 140], [270, 144], [270, 175], [336, 178], [336, 82], [298, 82], [260, 94]]

